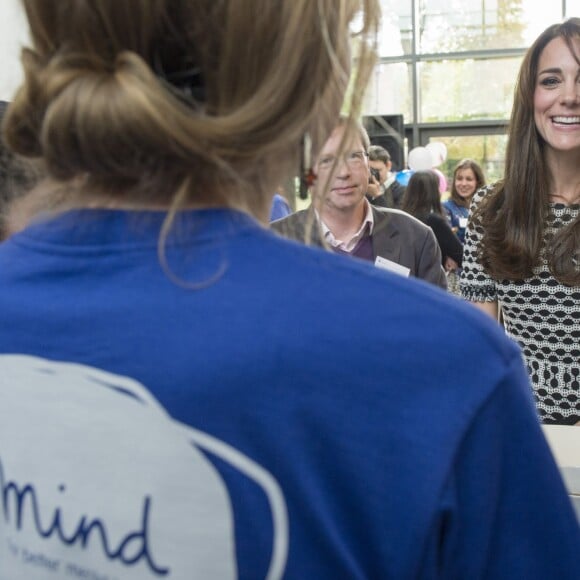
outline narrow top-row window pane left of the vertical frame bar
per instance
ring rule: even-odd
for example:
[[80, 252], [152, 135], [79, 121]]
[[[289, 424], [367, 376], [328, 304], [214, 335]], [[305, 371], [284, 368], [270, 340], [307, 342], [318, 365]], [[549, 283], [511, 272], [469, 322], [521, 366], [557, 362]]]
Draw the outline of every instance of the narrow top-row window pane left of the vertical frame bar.
[[411, 0], [381, 0], [382, 30], [379, 56], [401, 56], [413, 51]]

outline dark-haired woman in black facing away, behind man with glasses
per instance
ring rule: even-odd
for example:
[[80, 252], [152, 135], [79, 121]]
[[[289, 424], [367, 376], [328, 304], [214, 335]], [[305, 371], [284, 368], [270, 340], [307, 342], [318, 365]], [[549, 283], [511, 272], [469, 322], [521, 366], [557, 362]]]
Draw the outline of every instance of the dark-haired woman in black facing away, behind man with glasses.
[[445, 271], [461, 267], [463, 247], [445, 219], [439, 193], [439, 179], [433, 171], [416, 171], [403, 196], [403, 211], [427, 224], [435, 234]]

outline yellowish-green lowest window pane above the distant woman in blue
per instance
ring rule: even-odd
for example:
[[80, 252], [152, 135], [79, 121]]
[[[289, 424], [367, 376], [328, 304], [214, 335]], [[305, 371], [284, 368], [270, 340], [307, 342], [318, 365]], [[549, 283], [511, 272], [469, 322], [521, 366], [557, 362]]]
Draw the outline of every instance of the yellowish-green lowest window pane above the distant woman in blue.
[[447, 147], [447, 159], [438, 167], [447, 179], [447, 190], [451, 190], [453, 170], [466, 157], [477, 161], [483, 169], [487, 183], [503, 178], [507, 135], [462, 135], [437, 137]]

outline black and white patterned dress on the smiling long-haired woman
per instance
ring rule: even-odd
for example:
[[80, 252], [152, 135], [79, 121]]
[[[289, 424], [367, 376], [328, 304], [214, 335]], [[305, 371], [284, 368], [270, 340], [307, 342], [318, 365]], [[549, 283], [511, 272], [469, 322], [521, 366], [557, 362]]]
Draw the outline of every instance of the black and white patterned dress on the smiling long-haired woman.
[[[491, 191], [477, 192], [472, 208]], [[580, 204], [550, 204], [544, 240], [571, 223]], [[463, 254], [461, 294], [476, 302], [497, 300], [506, 332], [522, 347], [540, 417], [546, 422], [580, 420], [580, 287], [565, 286], [541, 264], [522, 281], [494, 280], [477, 259], [482, 228], [469, 224]], [[545, 246], [545, 244], [544, 244]]]

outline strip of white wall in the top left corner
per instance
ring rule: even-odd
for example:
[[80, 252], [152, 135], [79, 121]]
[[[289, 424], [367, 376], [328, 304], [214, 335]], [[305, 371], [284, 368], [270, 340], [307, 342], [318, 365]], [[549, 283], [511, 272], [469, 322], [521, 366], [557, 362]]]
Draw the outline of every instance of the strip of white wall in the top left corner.
[[28, 28], [20, 0], [0, 2], [0, 100], [11, 101], [22, 80], [20, 49]]

